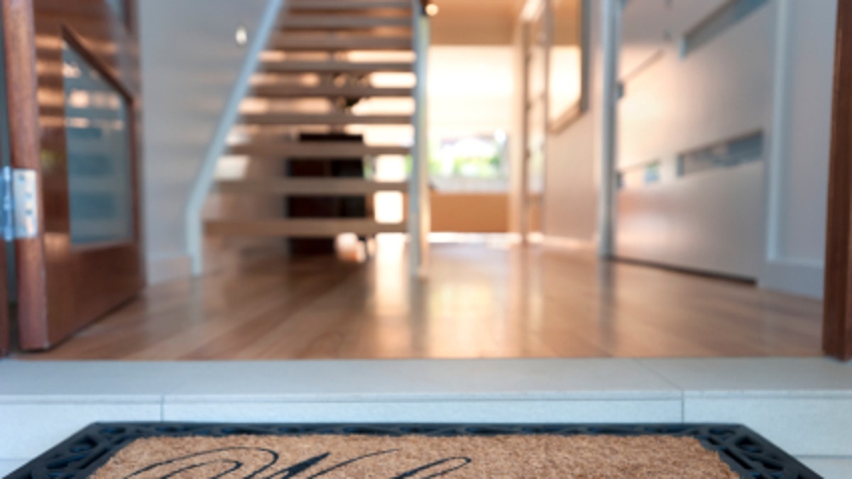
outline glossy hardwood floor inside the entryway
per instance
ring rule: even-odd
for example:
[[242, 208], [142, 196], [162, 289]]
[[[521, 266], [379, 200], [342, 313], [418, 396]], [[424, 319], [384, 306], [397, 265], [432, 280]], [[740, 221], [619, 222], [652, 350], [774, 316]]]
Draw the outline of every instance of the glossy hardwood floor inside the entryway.
[[818, 301], [590, 252], [402, 245], [153, 286], [32, 360], [820, 355]]

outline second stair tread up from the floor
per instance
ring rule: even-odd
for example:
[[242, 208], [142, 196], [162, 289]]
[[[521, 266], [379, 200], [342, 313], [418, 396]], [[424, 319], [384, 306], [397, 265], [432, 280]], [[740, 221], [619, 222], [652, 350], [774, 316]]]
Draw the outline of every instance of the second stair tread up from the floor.
[[407, 182], [376, 182], [366, 178], [274, 178], [218, 182], [224, 193], [324, 196], [328, 194], [371, 194], [407, 191]]

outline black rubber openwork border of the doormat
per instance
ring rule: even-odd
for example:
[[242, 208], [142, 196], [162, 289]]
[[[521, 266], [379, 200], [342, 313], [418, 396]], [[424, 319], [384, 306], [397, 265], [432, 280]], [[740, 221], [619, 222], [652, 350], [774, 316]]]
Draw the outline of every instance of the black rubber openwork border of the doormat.
[[719, 453], [742, 477], [820, 477], [790, 454], [739, 424], [201, 424], [95, 423], [43, 453], [9, 479], [87, 477], [136, 439], [162, 436], [688, 436]]

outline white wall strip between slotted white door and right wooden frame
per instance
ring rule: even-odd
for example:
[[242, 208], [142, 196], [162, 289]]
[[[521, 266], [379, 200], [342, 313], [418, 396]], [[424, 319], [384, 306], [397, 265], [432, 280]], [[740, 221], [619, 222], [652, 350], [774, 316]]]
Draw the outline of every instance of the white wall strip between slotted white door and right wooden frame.
[[831, 140], [835, 0], [778, 0], [767, 258], [761, 286], [821, 296]]

